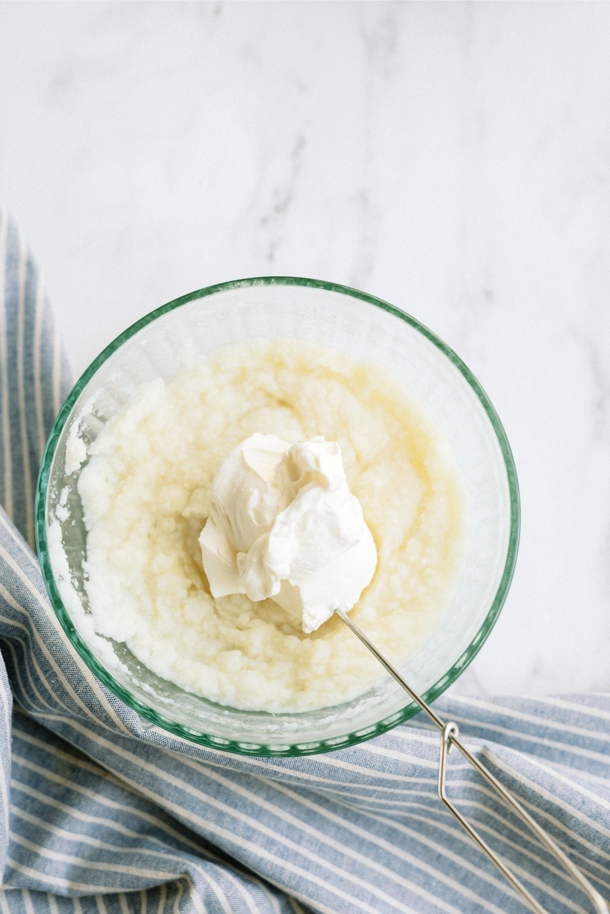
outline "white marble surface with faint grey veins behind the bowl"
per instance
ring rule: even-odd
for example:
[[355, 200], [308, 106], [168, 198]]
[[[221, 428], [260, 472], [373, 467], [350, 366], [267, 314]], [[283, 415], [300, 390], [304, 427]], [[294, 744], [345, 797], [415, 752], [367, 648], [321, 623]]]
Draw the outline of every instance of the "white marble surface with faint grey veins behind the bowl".
[[610, 686], [610, 5], [0, 5], [0, 204], [73, 365], [211, 282], [354, 284], [508, 430], [518, 569], [457, 687]]

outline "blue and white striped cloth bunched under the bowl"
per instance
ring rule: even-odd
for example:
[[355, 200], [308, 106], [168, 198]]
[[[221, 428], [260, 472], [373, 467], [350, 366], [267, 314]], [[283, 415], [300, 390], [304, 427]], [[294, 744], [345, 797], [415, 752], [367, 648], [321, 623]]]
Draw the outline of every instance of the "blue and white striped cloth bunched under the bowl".
[[[69, 369], [1, 213], [0, 369], [0, 912], [525, 911], [439, 803], [439, 739], [419, 718], [326, 756], [243, 759], [144, 728], [82, 664], [32, 551]], [[610, 896], [610, 695], [435, 707]], [[449, 771], [457, 805], [544, 907], [587, 910], [457, 753]]]

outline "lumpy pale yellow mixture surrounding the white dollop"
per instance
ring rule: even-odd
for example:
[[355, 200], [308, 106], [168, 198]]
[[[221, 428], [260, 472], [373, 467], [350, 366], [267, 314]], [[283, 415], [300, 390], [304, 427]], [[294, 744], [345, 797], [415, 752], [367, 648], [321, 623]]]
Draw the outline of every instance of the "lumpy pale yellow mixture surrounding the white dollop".
[[157, 675], [232, 707], [336, 705], [380, 664], [337, 618], [305, 634], [273, 600], [214, 600], [198, 536], [220, 462], [253, 432], [338, 441], [378, 551], [350, 615], [395, 663], [439, 622], [461, 567], [452, 452], [386, 372], [317, 345], [248, 342], [140, 388], [80, 474], [97, 630]]

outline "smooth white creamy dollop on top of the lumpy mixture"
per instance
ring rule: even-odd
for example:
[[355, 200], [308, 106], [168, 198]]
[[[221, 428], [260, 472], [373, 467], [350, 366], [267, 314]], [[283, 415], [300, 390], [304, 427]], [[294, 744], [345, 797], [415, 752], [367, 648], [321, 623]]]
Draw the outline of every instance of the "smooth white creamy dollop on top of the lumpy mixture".
[[304, 632], [348, 612], [377, 567], [337, 441], [255, 433], [220, 464], [199, 537], [215, 598], [271, 598]]

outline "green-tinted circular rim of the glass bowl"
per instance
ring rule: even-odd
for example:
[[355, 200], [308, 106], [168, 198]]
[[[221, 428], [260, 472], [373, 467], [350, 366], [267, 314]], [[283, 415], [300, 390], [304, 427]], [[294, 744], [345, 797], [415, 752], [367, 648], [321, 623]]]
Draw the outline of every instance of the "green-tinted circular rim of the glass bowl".
[[127, 689], [124, 688], [123, 685], [120, 685], [118, 682], [116, 682], [108, 670], [104, 669], [102, 664], [100, 664], [99, 661], [93, 656], [93, 654], [91, 654], [89, 647], [82, 641], [79, 632], [77, 632], [74, 624], [71, 622], [70, 615], [68, 614], [68, 611], [66, 610], [59, 596], [59, 590], [55, 583], [55, 578], [53, 576], [53, 570], [51, 568], [51, 563], [48, 555], [46, 529], [47, 487], [48, 475], [50, 473], [51, 464], [53, 462], [55, 448], [59, 440], [61, 430], [63, 429], [66, 420], [68, 420], [74, 404], [80, 397], [80, 392], [89, 383], [91, 377], [94, 376], [97, 369], [106, 361], [109, 356], [112, 356], [112, 353], [115, 352], [119, 346], [123, 345], [125, 340], [128, 340], [131, 336], [136, 334], [139, 330], [142, 330], [142, 328], [147, 324], [155, 321], [155, 319], [160, 317], [162, 314], [167, 314], [167, 312], [173, 311], [175, 308], [179, 308], [181, 305], [192, 302], [195, 299], [207, 298], [209, 295], [213, 295], [216, 292], [257, 285], [294, 285], [305, 286], [314, 289], [325, 289], [327, 292], [339, 292], [343, 295], [357, 298], [362, 302], [367, 302], [376, 308], [380, 308], [382, 311], [385, 311], [388, 314], [393, 314], [396, 318], [398, 318], [398, 320], [404, 321], [405, 324], [410, 324], [415, 330], [418, 331], [418, 333], [422, 334], [427, 340], [433, 343], [437, 349], [440, 349], [444, 356], [453, 362], [462, 376], [466, 378], [466, 381], [474, 390], [476, 397], [480, 401], [483, 409], [485, 409], [487, 417], [491, 422], [491, 425], [498, 438], [498, 444], [504, 458], [508, 479], [510, 501], [510, 535], [508, 537], [506, 562], [504, 571], [502, 573], [502, 578], [499, 582], [498, 591], [491, 603], [491, 606], [489, 607], [485, 621], [481, 625], [478, 632], [476, 632], [475, 637], [466, 648], [464, 654], [462, 654], [462, 656], [438, 680], [438, 682], [436, 682], [431, 688], [428, 689], [428, 691], [423, 696], [424, 699], [428, 703], [433, 702], [435, 698], [442, 695], [444, 690], [448, 688], [449, 685], [452, 685], [457, 677], [464, 672], [466, 666], [472, 662], [476, 654], [478, 654], [481, 647], [486, 642], [489, 632], [491, 632], [498, 619], [498, 615], [502, 609], [504, 600], [506, 600], [507, 597], [508, 588], [510, 586], [510, 581], [515, 569], [515, 562], [517, 560], [517, 550], [519, 546], [519, 484], [517, 481], [515, 462], [513, 460], [512, 452], [510, 451], [510, 446], [508, 444], [508, 438], [505, 430], [502, 427], [502, 423], [498, 418], [498, 413], [492, 406], [485, 390], [478, 383], [476, 377], [473, 375], [470, 369], [465, 365], [462, 359], [456, 355], [450, 346], [446, 345], [443, 340], [439, 339], [438, 336], [433, 334], [432, 331], [425, 327], [423, 324], [420, 324], [419, 321], [416, 321], [415, 318], [410, 314], [405, 314], [394, 305], [388, 302], [384, 302], [379, 298], [375, 298], [373, 295], [368, 295], [366, 292], [359, 292], [358, 289], [352, 289], [349, 286], [339, 285], [336, 282], [324, 282], [322, 280], [311, 280], [294, 276], [259, 276], [251, 279], [235, 280], [234, 282], [220, 282], [217, 285], [208, 286], [205, 289], [199, 289], [197, 292], [190, 292], [187, 295], [183, 295], [181, 298], [175, 299], [173, 302], [169, 302], [159, 308], [156, 308], [155, 311], [152, 311], [150, 314], [146, 314], [139, 321], [136, 321], [135, 324], [132, 324], [130, 327], [124, 330], [121, 335], [117, 336], [116, 339], [113, 340], [110, 345], [107, 345], [102, 353], [91, 362], [91, 365], [81, 375], [77, 383], [70, 391], [68, 399], [60, 409], [59, 416], [57, 420], [55, 420], [55, 424], [51, 430], [47, 442], [47, 447], [43, 455], [42, 465], [40, 468], [40, 474], [38, 476], [37, 483], [37, 551], [40, 567], [42, 569], [42, 574], [48, 590], [48, 596], [51, 600], [53, 609], [57, 613], [59, 622], [61, 623], [64, 632], [66, 632], [68, 635], [70, 642], [78, 654], [80, 654], [80, 657], [84, 660], [85, 664], [87, 664], [87, 666], [90, 668], [91, 672], [98, 677], [102, 684], [106, 685], [114, 693], [114, 695], [118, 696], [125, 703], [125, 705], [133, 708], [133, 710], [136, 711], [137, 714], [139, 714], [141, 717], [144, 717], [145, 720], [150, 721], [155, 726], [160, 727], [169, 733], [173, 733], [177, 737], [198, 743], [200, 746], [207, 746], [210, 749], [221, 749], [223, 751], [236, 753], [238, 755], [265, 757], [314, 755], [318, 752], [329, 752], [337, 749], [346, 749], [349, 746], [354, 746], [357, 743], [364, 742], [366, 739], [372, 739], [373, 737], [379, 736], [381, 733], [385, 733], [392, 727], [396, 727], [398, 724], [401, 724], [405, 720], [408, 720], [410, 717], [413, 717], [419, 712], [419, 707], [414, 702], [410, 702], [400, 711], [392, 714], [391, 717], [384, 717], [377, 724], [369, 726], [365, 729], [347, 733], [343, 737], [322, 739], [317, 742], [308, 743], [297, 742], [292, 745], [263, 745], [258, 743], [241, 742], [237, 740], [220, 739], [219, 737], [203, 733], [202, 731], [188, 728], [183, 724], [178, 724], [176, 721], [164, 717], [162, 714], [159, 714], [157, 711], [155, 711], [154, 708], [147, 707], [141, 701], [135, 698]]

